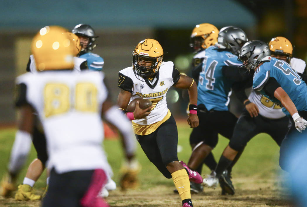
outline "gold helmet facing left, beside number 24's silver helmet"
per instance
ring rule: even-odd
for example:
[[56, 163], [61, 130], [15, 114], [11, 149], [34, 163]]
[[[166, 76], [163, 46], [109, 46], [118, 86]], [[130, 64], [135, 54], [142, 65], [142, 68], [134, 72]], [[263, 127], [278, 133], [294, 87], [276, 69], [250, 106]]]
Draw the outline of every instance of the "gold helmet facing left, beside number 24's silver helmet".
[[192, 31], [191, 44], [195, 52], [208, 48], [217, 43], [219, 30], [212, 24], [198, 24]]

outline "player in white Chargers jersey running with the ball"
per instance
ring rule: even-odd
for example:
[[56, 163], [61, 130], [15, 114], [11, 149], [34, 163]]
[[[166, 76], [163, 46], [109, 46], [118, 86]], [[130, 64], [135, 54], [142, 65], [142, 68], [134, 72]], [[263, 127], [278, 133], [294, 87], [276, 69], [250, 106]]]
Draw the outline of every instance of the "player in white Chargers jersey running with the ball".
[[139, 42], [133, 51], [132, 67], [119, 71], [118, 86], [121, 91], [117, 104], [125, 111], [129, 102], [138, 97], [153, 103], [148, 109], [136, 107], [134, 112], [125, 111], [126, 116], [133, 120], [134, 133], [148, 159], [166, 178], [173, 179], [183, 206], [193, 206], [189, 178], [201, 183], [202, 177], [178, 161], [177, 126], [167, 108], [166, 93], [171, 86], [188, 89], [188, 124], [194, 128], [198, 126], [196, 83], [192, 78], [181, 75], [173, 62], [162, 60], [163, 49], [158, 41], [145, 39]]

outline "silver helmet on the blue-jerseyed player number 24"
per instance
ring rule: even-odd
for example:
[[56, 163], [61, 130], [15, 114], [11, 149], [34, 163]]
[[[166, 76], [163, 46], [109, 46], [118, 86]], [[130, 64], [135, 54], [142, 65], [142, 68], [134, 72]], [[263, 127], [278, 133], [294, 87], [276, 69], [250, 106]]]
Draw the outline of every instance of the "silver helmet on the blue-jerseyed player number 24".
[[241, 47], [247, 42], [245, 32], [235, 26], [223, 27], [217, 38], [217, 46], [221, 49], [229, 49], [232, 54], [239, 55]]

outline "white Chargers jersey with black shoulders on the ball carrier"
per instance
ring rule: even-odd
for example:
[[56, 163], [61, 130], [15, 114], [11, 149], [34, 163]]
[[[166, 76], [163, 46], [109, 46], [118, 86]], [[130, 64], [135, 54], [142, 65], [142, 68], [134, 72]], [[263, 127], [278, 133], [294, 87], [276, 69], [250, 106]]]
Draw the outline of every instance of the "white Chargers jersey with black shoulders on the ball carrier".
[[162, 62], [156, 77], [150, 82], [134, 74], [132, 67], [119, 71], [119, 88], [132, 93], [130, 102], [135, 98], [147, 98], [153, 103], [151, 113], [142, 119], [133, 120], [139, 125], [150, 125], [168, 114], [166, 93], [180, 78], [173, 62]]

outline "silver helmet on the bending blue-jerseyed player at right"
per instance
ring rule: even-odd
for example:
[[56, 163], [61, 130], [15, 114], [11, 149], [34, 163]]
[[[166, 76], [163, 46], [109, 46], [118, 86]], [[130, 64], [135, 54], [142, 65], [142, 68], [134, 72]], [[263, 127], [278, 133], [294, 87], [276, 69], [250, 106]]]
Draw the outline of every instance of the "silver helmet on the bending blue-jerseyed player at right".
[[243, 62], [240, 68], [255, 70], [260, 62], [271, 60], [270, 48], [260, 40], [249, 41], [242, 46], [238, 60]]

